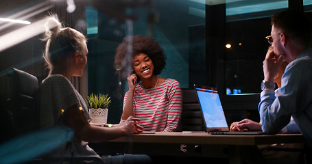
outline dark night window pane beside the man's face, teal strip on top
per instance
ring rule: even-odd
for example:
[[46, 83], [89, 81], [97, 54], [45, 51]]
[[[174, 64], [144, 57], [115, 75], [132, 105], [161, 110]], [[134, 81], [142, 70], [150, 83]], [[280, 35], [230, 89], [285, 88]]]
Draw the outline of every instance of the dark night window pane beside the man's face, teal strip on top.
[[[227, 94], [261, 92], [262, 63], [269, 47], [269, 17], [285, 10], [288, 1], [234, 1], [226, 3], [225, 80]], [[225, 47], [225, 46], [224, 46]]]

